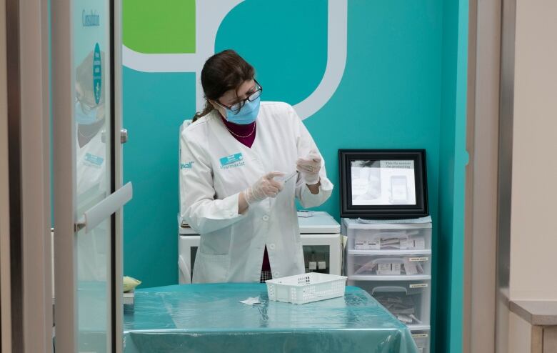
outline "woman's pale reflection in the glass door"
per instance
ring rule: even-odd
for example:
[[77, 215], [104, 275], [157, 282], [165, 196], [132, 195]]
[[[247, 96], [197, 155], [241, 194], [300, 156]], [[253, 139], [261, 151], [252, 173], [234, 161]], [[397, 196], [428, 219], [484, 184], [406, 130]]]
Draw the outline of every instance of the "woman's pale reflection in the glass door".
[[[107, 146], [104, 89], [99, 101], [95, 99], [93, 82], [93, 57], [91, 51], [76, 69], [76, 192], [78, 214], [83, 214], [106, 197], [110, 181], [106, 174]], [[104, 53], [101, 53], [104, 72]], [[102, 222], [89, 233], [81, 230], [77, 237], [78, 279], [81, 281], [106, 281], [109, 224]]]

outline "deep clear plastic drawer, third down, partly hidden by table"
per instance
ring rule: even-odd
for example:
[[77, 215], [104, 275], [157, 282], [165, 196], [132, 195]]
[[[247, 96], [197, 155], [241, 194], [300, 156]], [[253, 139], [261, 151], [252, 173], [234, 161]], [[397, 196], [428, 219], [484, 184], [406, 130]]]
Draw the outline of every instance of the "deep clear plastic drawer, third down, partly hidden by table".
[[[411, 329], [430, 324], [431, 281], [353, 281]], [[412, 315], [412, 316], [411, 316]]]

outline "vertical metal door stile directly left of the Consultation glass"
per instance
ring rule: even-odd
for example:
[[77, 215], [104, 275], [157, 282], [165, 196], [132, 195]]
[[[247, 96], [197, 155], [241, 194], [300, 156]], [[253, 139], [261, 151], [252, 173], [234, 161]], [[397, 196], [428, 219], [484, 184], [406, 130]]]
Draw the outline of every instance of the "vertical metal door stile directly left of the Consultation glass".
[[[74, 80], [69, 68], [73, 67], [71, 53], [71, 6], [70, 0], [51, 3], [52, 41], [52, 138], [54, 177], [54, 288], [56, 303], [56, 351], [77, 352], [77, 302], [74, 294], [77, 274], [75, 258], [67, 256], [76, 252], [74, 220], [76, 209], [74, 195], [66, 192], [67, 186], [75, 184], [75, 132], [71, 104]], [[69, 166], [67, 165], [69, 162]], [[75, 189], [75, 185], [74, 185]]]

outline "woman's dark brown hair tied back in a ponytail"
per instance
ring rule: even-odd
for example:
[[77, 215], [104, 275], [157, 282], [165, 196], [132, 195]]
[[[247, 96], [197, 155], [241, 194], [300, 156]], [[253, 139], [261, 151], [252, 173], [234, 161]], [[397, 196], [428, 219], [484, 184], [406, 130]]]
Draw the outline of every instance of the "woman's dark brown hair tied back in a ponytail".
[[205, 108], [194, 115], [194, 121], [215, 109], [209, 99], [218, 100], [226, 91], [237, 90], [244, 81], [249, 81], [254, 76], [254, 66], [232, 49], [211, 56], [205, 61], [201, 70], [201, 86], [206, 99]]

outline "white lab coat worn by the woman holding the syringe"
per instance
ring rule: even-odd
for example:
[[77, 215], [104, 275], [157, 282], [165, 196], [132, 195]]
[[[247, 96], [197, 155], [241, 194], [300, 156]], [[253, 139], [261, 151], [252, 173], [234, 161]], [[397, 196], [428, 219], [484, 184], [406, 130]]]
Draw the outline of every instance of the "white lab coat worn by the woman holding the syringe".
[[194, 283], [259, 282], [267, 247], [274, 278], [304, 272], [294, 204], [316, 207], [331, 196], [324, 161], [321, 187], [311, 194], [301, 176], [286, 182], [276, 198], [238, 213], [239, 193], [269, 171], [296, 170], [296, 159], [318, 151], [292, 106], [261, 102], [251, 148], [226, 129], [212, 111], [181, 134], [181, 217], [201, 234]]

